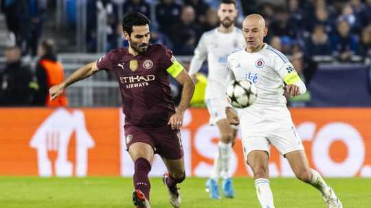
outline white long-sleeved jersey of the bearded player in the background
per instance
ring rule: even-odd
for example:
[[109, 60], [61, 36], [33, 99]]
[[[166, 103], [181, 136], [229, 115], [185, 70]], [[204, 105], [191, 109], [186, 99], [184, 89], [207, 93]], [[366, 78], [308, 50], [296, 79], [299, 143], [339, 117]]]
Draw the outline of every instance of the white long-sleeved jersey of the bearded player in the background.
[[194, 74], [201, 68], [207, 58], [208, 76], [205, 91], [205, 99], [225, 99], [225, 87], [227, 82], [227, 56], [234, 51], [243, 49], [245, 40], [242, 30], [234, 27], [230, 33], [218, 32], [218, 28], [205, 32], [194, 50], [194, 56], [190, 63], [190, 74]]

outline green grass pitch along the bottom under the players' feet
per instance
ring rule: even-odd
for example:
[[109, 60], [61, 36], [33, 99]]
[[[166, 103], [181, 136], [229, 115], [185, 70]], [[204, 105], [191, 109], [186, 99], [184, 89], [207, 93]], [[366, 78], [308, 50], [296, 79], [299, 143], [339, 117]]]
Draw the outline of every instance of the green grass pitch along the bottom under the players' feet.
[[[346, 208], [371, 207], [371, 178], [326, 178]], [[153, 208], [171, 208], [161, 178], [151, 178]], [[234, 178], [233, 199], [211, 200], [205, 192], [205, 178], [187, 178], [181, 185], [184, 208], [260, 207], [251, 178]], [[319, 192], [295, 178], [271, 178], [277, 208], [326, 207]], [[1, 208], [98, 208], [134, 207], [131, 178], [38, 178], [0, 177]]]

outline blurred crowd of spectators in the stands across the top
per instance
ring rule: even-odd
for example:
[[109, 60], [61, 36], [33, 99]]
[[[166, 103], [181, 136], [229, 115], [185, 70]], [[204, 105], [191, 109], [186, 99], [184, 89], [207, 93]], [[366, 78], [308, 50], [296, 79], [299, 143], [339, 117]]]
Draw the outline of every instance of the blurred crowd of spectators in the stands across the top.
[[[67, 21], [76, 21], [74, 7], [80, 1], [64, 2]], [[218, 26], [218, 0], [87, 0], [86, 3], [89, 52], [97, 51], [100, 9], [106, 13], [107, 51], [127, 45], [119, 17], [127, 12], [146, 14], [152, 21], [151, 42], [168, 45], [177, 55], [192, 55], [201, 34]], [[306, 56], [333, 56], [341, 61], [349, 61], [354, 55], [371, 56], [371, 0], [249, 0], [238, 1], [238, 9], [237, 25], [247, 14], [262, 14], [269, 27], [265, 42], [284, 54], [300, 49]], [[16, 35], [23, 54], [36, 55], [45, 10], [46, 0], [1, 1], [8, 30]], [[75, 13], [69, 12], [73, 10]]]

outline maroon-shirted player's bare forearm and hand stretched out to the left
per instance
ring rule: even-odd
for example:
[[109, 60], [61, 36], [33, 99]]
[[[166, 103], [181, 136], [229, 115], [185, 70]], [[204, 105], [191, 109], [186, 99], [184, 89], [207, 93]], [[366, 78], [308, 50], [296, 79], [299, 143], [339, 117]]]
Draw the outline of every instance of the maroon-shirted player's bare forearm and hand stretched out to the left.
[[56, 99], [59, 95], [65, 91], [67, 86], [74, 84], [75, 82], [78, 82], [80, 80], [83, 80], [85, 78], [89, 78], [89, 76], [92, 76], [95, 72], [99, 71], [97, 67], [97, 62], [91, 62], [80, 69], [76, 70], [74, 73], [67, 78], [64, 82], [54, 85], [49, 89], [49, 94], [51, 97], [51, 100]]

